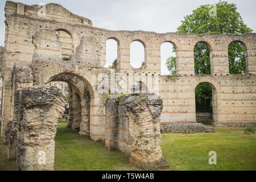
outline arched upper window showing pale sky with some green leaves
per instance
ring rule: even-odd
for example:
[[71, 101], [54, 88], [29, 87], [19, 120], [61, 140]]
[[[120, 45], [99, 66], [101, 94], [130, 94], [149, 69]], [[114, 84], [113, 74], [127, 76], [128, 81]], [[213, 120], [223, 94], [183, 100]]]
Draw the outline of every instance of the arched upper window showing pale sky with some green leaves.
[[170, 42], [161, 45], [161, 75], [176, 75], [176, 48]]

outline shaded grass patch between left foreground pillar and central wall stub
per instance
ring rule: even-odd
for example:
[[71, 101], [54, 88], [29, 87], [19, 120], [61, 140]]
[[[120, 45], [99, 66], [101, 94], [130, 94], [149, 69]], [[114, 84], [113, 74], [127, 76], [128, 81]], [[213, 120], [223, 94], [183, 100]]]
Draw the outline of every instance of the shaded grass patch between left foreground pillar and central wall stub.
[[55, 138], [55, 170], [137, 170], [122, 152], [109, 151], [103, 142], [93, 142], [59, 123]]

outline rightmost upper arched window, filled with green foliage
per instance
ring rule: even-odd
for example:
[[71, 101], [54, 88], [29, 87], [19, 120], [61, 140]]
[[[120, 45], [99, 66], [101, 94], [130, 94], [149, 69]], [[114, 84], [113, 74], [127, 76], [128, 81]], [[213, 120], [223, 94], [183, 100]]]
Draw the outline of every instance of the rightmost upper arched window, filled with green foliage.
[[246, 74], [245, 47], [240, 42], [229, 44], [229, 73], [230, 75]]

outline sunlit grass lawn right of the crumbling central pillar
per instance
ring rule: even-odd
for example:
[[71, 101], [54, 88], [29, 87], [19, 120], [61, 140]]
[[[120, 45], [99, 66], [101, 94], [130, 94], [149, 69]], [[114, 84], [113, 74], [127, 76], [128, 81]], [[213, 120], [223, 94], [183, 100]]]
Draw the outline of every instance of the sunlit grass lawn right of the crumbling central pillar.
[[[256, 135], [245, 128], [216, 128], [216, 133], [162, 134], [163, 156], [171, 170], [256, 170]], [[217, 165], [209, 165], [210, 151]]]

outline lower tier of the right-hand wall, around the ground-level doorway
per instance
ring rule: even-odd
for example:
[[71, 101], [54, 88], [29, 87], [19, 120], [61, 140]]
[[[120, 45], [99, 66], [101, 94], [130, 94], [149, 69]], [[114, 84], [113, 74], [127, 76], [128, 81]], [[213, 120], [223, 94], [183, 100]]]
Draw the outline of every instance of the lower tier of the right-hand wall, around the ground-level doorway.
[[200, 82], [207, 82], [213, 90], [214, 125], [255, 125], [255, 80], [255, 75], [162, 77], [161, 120], [196, 122], [195, 89]]

